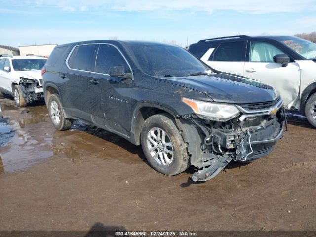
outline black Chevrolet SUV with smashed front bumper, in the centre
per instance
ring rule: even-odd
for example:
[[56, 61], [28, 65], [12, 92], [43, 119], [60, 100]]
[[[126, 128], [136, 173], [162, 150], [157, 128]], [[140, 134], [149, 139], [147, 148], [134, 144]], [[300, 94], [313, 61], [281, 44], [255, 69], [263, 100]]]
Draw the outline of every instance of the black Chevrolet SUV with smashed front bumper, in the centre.
[[158, 172], [190, 165], [194, 181], [231, 160], [269, 154], [283, 132], [272, 87], [212, 72], [185, 49], [99, 40], [57, 46], [43, 67], [44, 97], [56, 129], [83, 120], [142, 145]]

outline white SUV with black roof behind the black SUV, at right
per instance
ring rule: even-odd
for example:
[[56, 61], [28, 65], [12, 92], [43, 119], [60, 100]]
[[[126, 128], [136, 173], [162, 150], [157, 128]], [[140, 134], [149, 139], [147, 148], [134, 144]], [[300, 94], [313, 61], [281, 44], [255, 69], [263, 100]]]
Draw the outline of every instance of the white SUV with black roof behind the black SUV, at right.
[[316, 127], [316, 44], [293, 36], [229, 36], [200, 40], [189, 51], [218, 71], [273, 86], [286, 109]]

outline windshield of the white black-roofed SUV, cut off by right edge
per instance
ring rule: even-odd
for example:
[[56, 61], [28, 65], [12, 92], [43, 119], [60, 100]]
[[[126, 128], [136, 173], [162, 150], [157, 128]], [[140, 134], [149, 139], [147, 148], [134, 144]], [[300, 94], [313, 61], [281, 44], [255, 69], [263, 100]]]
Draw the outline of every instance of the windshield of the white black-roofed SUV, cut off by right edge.
[[279, 41], [306, 59], [316, 59], [316, 43], [296, 37], [282, 38]]

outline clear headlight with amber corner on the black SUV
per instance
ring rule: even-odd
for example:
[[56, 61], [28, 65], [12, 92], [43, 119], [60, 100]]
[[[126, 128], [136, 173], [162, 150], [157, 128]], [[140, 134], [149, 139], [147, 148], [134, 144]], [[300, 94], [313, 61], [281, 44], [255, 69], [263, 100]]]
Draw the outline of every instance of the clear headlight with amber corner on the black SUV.
[[225, 122], [240, 114], [235, 105], [204, 102], [184, 97], [182, 101], [189, 105], [198, 117], [203, 119]]

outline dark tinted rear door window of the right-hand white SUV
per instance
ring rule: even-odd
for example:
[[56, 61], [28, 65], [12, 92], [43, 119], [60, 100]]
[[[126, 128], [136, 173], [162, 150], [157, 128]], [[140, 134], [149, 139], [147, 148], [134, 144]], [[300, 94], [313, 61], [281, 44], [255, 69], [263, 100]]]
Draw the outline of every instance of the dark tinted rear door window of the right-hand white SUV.
[[245, 41], [221, 43], [214, 52], [213, 61], [245, 61], [245, 51]]

